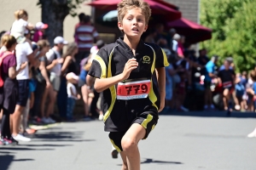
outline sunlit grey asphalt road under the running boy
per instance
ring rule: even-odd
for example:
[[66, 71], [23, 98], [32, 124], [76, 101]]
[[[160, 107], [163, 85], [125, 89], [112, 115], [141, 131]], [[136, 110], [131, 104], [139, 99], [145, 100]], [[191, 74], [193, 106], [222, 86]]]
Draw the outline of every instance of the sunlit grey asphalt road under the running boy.
[[[160, 115], [148, 139], [139, 143], [141, 169], [255, 170], [256, 113], [189, 112]], [[1, 170], [120, 170], [110, 155], [103, 123], [55, 124], [29, 143], [0, 146]]]

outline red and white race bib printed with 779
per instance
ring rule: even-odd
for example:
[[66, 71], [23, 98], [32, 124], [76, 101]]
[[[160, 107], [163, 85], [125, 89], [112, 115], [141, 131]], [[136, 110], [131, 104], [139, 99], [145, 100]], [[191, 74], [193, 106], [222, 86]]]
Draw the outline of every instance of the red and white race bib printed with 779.
[[148, 97], [150, 88], [150, 80], [119, 82], [117, 86], [117, 99], [145, 99]]

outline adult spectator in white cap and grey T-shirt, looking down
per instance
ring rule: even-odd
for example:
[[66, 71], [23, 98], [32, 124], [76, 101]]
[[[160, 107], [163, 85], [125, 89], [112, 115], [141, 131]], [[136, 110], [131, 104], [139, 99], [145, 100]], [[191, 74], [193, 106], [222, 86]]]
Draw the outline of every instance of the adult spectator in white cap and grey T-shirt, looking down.
[[63, 59], [61, 59], [61, 50], [64, 45], [67, 45], [67, 41], [63, 37], [55, 37], [55, 46], [49, 49], [46, 54], [46, 58], [50, 63], [47, 65], [46, 69], [49, 71], [49, 81], [52, 88], [49, 88], [49, 105], [46, 111], [46, 117], [42, 118], [45, 123], [55, 123], [55, 121], [50, 117], [54, 112], [55, 100], [61, 85], [61, 64]]

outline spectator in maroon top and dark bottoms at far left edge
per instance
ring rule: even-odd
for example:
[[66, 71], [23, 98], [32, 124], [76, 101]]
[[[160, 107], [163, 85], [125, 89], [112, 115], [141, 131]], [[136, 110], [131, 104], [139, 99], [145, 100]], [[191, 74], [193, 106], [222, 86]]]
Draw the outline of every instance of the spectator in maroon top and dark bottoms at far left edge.
[[[11, 136], [10, 130], [10, 114], [15, 112], [15, 104], [17, 101], [17, 91], [18, 82], [16, 80], [16, 75], [26, 68], [27, 62], [20, 64], [19, 69], [16, 71], [16, 59], [15, 54], [12, 52], [16, 48], [15, 37], [4, 35], [1, 38], [1, 43], [5, 46], [6, 50], [3, 51], [1, 55], [1, 80], [3, 81], [3, 86], [0, 88], [0, 105], [3, 109], [3, 117], [1, 123], [1, 144], [17, 144], [16, 140], [29, 140], [22, 135], [16, 133], [15, 139]], [[17, 117], [19, 120], [19, 117]], [[16, 122], [16, 125], [18, 123]], [[16, 129], [14, 129], [15, 131]], [[17, 131], [15, 131], [17, 132]]]

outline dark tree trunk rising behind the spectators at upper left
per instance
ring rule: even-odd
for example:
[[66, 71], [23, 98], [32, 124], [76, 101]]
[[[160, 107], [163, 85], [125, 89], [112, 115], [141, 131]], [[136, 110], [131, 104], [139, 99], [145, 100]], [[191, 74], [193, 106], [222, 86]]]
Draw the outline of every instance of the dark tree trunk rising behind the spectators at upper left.
[[45, 35], [53, 46], [55, 37], [63, 37], [63, 21], [69, 14], [67, 0], [39, 0], [39, 2], [42, 5], [42, 21], [48, 24]]

